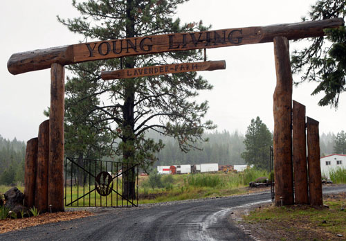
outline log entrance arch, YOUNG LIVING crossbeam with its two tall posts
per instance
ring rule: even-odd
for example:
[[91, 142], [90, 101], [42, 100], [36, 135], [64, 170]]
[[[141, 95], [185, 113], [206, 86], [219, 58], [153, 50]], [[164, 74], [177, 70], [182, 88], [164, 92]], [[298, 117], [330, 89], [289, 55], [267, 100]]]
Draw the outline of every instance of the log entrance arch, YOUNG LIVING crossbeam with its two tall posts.
[[[8, 60], [8, 71], [16, 75], [51, 68], [51, 117], [49, 122], [48, 204], [54, 211], [64, 210], [64, 65], [131, 55], [201, 48], [220, 48], [244, 44], [274, 43], [277, 87], [274, 93], [275, 203], [293, 204], [292, 168], [292, 76], [289, 40], [325, 35], [325, 28], [343, 26], [343, 19], [304, 21], [250, 28], [210, 30], [198, 33], [172, 33], [113, 39], [15, 53]], [[316, 156], [316, 155], [315, 155]], [[319, 161], [317, 156], [312, 163]], [[321, 197], [322, 198], [322, 197]]]

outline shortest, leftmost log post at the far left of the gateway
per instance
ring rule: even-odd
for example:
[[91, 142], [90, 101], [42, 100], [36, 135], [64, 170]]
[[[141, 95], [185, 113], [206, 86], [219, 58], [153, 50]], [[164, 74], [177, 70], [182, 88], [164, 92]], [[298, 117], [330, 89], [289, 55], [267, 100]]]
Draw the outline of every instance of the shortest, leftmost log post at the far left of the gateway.
[[30, 139], [26, 143], [25, 166], [24, 166], [24, 205], [28, 208], [35, 206], [35, 182], [37, 165], [37, 142], [38, 139]]

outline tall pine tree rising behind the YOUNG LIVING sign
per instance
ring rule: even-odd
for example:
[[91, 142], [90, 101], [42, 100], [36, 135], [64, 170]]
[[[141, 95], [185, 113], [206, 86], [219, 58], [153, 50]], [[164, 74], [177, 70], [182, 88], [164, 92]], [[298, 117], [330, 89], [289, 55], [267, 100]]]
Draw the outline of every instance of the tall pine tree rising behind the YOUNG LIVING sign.
[[[172, 19], [176, 6], [185, 1], [188, 0], [73, 1], [82, 16], [59, 21], [73, 33], [82, 34], [85, 41], [207, 30], [201, 22], [181, 25], [179, 19]], [[201, 122], [208, 102], [199, 104], [192, 98], [212, 86], [196, 73], [103, 81], [100, 72], [121, 66], [131, 69], [201, 59], [201, 51], [184, 51], [75, 64], [69, 69], [76, 78], [95, 83], [90, 96], [99, 96], [100, 100], [103, 97], [89, 114], [104, 114], [98, 121], [109, 127], [114, 154], [124, 162], [140, 163], [141, 168], [147, 169], [156, 161], [155, 153], [163, 148], [161, 141], [145, 137], [148, 130], [174, 137], [184, 152], [204, 141], [203, 130], [214, 127], [211, 121]], [[123, 177], [122, 195], [134, 197], [134, 175], [127, 172]]]

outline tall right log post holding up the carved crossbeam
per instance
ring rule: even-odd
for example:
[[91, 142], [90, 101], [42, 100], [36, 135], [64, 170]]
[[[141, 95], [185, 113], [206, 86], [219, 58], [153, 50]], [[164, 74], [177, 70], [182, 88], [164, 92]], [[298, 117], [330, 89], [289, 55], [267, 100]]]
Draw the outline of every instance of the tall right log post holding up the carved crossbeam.
[[294, 204], [292, 167], [292, 73], [289, 40], [274, 37], [276, 87], [273, 95], [274, 112], [274, 172], [275, 205]]

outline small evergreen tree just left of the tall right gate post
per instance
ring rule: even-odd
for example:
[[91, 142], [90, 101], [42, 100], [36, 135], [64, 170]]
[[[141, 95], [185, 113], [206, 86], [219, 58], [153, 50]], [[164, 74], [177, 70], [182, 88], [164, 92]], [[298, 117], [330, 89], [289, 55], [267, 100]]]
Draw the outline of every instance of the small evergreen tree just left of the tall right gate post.
[[246, 151], [242, 153], [242, 158], [248, 165], [254, 165], [260, 169], [269, 170], [270, 152], [269, 148], [273, 144], [273, 135], [262, 123], [260, 117], [252, 119], [251, 124], [244, 139]]

